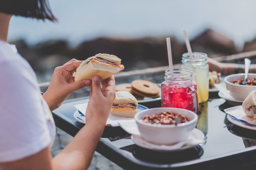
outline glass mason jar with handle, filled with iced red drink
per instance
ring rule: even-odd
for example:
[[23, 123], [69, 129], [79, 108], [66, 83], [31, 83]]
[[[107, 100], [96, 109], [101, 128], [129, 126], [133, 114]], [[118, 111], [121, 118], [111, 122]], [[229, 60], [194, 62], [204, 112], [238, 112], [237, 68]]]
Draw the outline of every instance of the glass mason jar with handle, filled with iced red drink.
[[161, 84], [162, 107], [183, 108], [198, 114], [196, 83], [192, 81], [192, 71], [187, 68], [173, 68], [165, 71], [165, 81]]

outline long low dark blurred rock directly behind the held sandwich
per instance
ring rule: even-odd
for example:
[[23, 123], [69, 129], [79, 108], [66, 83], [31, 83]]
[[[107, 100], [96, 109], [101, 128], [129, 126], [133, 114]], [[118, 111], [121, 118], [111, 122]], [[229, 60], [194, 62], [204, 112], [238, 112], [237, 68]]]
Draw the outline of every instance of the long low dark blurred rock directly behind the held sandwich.
[[[175, 37], [171, 38], [173, 62], [181, 61], [181, 54], [184, 47]], [[154, 66], [166, 65], [168, 63], [166, 38], [146, 37], [142, 39], [121, 39], [121, 38], [99, 38], [81, 43], [71, 53], [77, 59], [86, 59], [98, 53], [114, 54], [122, 59], [125, 70], [132, 68], [152, 67], [148, 65], [151, 61], [156, 61]], [[138, 65], [136, 62], [143, 61], [145, 65]], [[148, 64], [146, 64], [148, 63]]]

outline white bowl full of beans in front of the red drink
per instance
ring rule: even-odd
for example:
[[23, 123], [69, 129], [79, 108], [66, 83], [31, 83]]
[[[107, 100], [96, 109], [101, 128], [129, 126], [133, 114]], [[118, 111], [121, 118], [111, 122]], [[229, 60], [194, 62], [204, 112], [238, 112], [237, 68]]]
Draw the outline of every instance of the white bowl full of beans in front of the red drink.
[[152, 108], [134, 116], [141, 136], [154, 144], [174, 144], [186, 140], [198, 116], [180, 108]]

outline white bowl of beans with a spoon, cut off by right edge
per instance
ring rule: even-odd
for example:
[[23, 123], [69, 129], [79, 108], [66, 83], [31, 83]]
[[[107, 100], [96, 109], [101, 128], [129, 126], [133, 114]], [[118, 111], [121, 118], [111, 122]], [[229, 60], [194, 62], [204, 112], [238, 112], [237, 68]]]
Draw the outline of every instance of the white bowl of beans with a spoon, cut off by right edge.
[[256, 74], [249, 73], [248, 79], [244, 81], [244, 74], [231, 74], [224, 78], [227, 92], [236, 100], [244, 101], [247, 95], [256, 90]]

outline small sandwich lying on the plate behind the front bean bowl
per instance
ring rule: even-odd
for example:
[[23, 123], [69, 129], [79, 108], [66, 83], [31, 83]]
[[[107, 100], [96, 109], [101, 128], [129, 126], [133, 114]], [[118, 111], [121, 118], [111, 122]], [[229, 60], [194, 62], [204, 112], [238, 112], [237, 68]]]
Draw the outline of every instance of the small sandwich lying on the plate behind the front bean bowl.
[[137, 99], [127, 91], [117, 91], [111, 107], [111, 114], [119, 117], [134, 117], [138, 112]]

